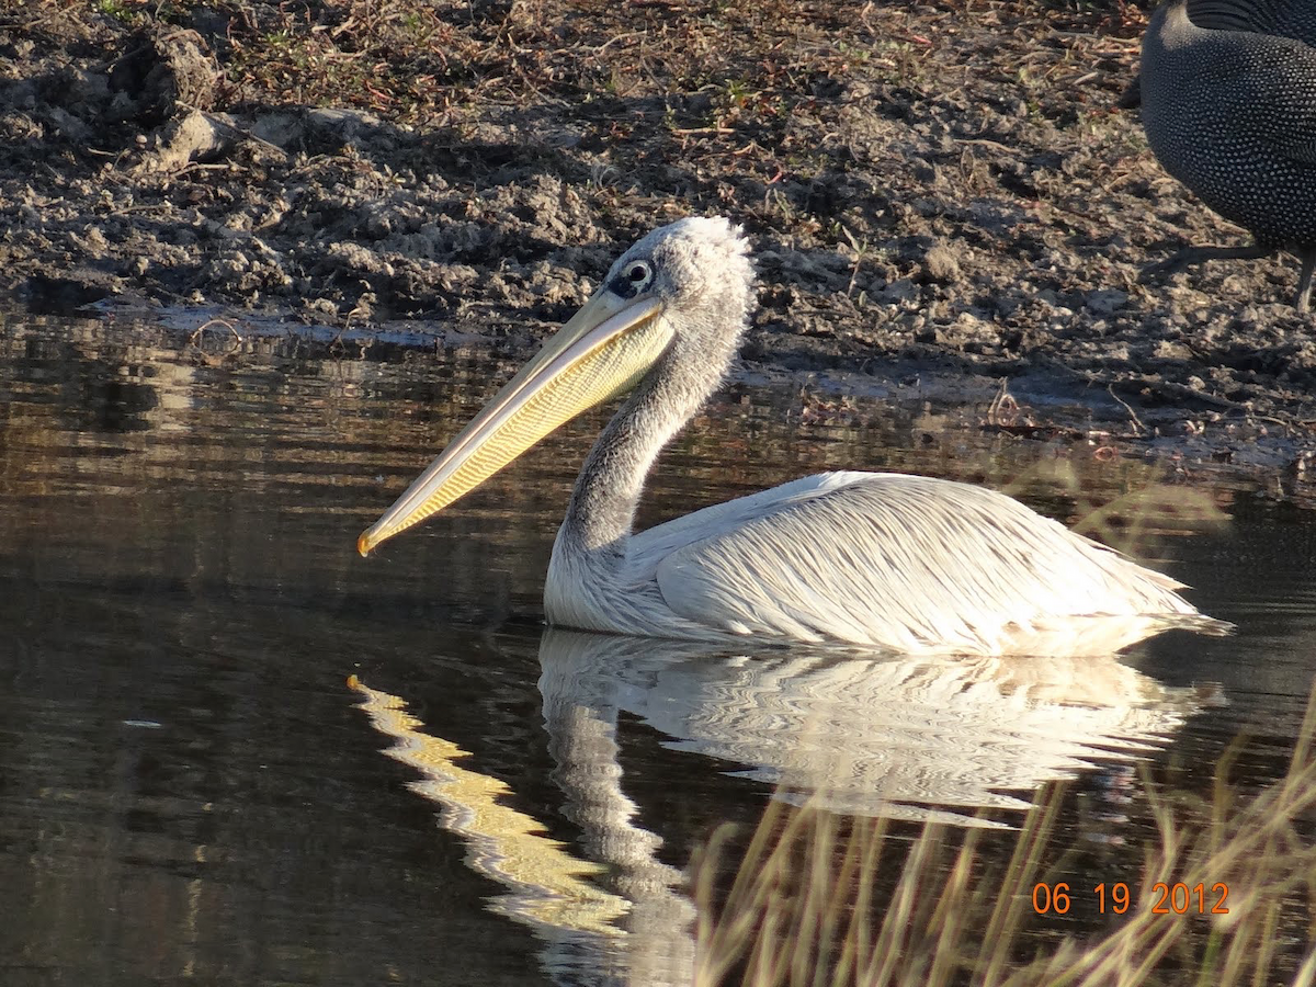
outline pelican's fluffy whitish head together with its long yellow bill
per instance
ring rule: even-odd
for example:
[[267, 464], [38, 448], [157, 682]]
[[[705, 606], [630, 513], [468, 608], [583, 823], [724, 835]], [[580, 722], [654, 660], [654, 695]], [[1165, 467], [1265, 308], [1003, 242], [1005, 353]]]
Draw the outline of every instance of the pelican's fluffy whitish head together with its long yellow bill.
[[397, 501], [357, 540], [366, 555], [470, 492], [582, 412], [661, 382], [675, 432], [721, 383], [745, 329], [753, 267], [738, 226], [686, 218], [654, 230]]

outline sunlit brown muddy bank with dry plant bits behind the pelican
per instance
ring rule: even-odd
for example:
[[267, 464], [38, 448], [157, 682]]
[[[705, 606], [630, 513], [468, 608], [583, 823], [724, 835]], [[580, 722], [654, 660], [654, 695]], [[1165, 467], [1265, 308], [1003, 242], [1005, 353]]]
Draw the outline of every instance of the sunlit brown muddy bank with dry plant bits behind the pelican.
[[1008, 376], [1305, 468], [1292, 259], [1138, 280], [1245, 234], [1115, 109], [1136, 9], [834, 7], [0, 0], [0, 287], [528, 343], [642, 232], [726, 213], [766, 372]]

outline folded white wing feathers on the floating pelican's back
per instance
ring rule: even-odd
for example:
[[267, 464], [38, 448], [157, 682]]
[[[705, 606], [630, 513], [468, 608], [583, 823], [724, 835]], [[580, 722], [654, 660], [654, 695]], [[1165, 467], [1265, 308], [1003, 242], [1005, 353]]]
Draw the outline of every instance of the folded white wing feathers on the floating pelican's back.
[[629, 554], [676, 616], [711, 629], [909, 653], [1105, 654], [1196, 613], [1169, 576], [926, 476], [807, 476], [659, 525]]

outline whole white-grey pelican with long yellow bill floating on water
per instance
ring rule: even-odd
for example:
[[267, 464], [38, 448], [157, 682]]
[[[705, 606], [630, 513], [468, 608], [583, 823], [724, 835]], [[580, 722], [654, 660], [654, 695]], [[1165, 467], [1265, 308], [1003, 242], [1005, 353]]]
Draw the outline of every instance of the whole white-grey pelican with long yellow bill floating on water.
[[974, 655], [1109, 654], [1171, 626], [1229, 628], [1179, 596], [1182, 583], [1017, 500], [928, 476], [822, 472], [634, 533], [654, 459], [736, 357], [753, 283], [749, 245], [725, 218], [644, 237], [357, 549], [368, 554], [629, 392], [558, 530], [550, 624]]

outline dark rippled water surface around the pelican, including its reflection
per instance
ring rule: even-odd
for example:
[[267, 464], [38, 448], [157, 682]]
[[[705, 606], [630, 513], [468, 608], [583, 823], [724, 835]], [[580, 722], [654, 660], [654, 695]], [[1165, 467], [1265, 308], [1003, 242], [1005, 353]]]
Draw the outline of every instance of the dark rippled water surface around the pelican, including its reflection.
[[1312, 516], [975, 417], [740, 384], [644, 520], [828, 467], [1067, 521], [1161, 480], [1169, 512], [1116, 513], [1238, 634], [1003, 667], [545, 632], [601, 416], [358, 558], [509, 368], [0, 315], [0, 983], [661, 983], [688, 965], [682, 867], [779, 783], [1011, 826], [1076, 775], [1074, 804], [1120, 804], [1067, 817], [1109, 848], [1095, 883], [1134, 879], [1150, 838], [1134, 754], [1208, 792], [1246, 732], [1249, 783], [1283, 772], [1316, 670]]

